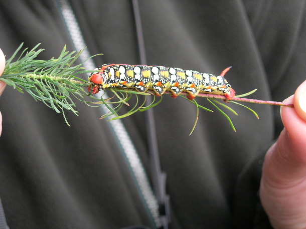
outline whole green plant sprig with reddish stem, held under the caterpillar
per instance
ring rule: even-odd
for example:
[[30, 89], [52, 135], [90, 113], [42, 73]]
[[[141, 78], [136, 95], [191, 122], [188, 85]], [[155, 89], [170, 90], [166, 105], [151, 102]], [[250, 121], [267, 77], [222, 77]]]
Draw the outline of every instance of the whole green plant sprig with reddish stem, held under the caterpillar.
[[[21, 51], [23, 46], [23, 44], [21, 44], [13, 56], [6, 62], [6, 67], [3, 75], [0, 77], [0, 80], [6, 82], [9, 86], [12, 86], [14, 89], [17, 89], [21, 93], [24, 93], [24, 91], [28, 92], [36, 101], [42, 101], [44, 104], [54, 109], [56, 112], [62, 112], [68, 125], [69, 123], [65, 117], [64, 111], [70, 110], [76, 115], [78, 113], [78, 111], [75, 110], [73, 97], [74, 99], [78, 99], [87, 103], [89, 106], [96, 107], [105, 105], [108, 108], [109, 113], [104, 114], [101, 118], [107, 118], [108, 120], [120, 119], [138, 111], [145, 111], [157, 106], [162, 101], [162, 97], [156, 101], [156, 96], [150, 91], [143, 93], [135, 90], [120, 90], [117, 88], [110, 88], [110, 91], [114, 94], [114, 96], [111, 98], [104, 99], [103, 95], [101, 97], [93, 97], [88, 94], [88, 92], [86, 92], [87, 90], [85, 90], [86, 87], [90, 85], [90, 83], [77, 77], [79, 74], [94, 72], [94, 70], [85, 70], [85, 68], [82, 67], [83, 64], [75, 64], [83, 50], [79, 51], [78, 53], [67, 52], [65, 46], [58, 58], [52, 58], [50, 60], [44, 61], [36, 59], [38, 55], [43, 51], [43, 49], [37, 50], [39, 45], [40, 44], [35, 46], [30, 51], [27, 51], [28, 49], [23, 50], [18, 56], [18, 53]], [[15, 61], [13, 62], [13, 60]], [[226, 117], [234, 131], [235, 127], [231, 119], [217, 105], [228, 109], [235, 115], [237, 115], [237, 113], [232, 108], [224, 103], [217, 101], [216, 99], [222, 99], [226, 102], [232, 102], [243, 106], [244, 108], [250, 110], [257, 118], [258, 115], [255, 111], [245, 105], [237, 103], [236, 101], [293, 107], [292, 104], [285, 104], [281, 102], [242, 98], [254, 93], [255, 91], [256, 90], [243, 95], [237, 95], [231, 101], [226, 101], [226, 97], [221, 95], [199, 94], [198, 97], [206, 97], [207, 100]], [[169, 91], [165, 92], [165, 94], [170, 93], [171, 92]], [[100, 94], [101, 93], [99, 93], [99, 95]], [[125, 114], [118, 115], [118, 112], [123, 105], [129, 106], [127, 102], [133, 95], [136, 95], [136, 102], [134, 106], [132, 106], [131, 109]], [[145, 96], [144, 102], [139, 101], [139, 95]], [[180, 95], [181, 97], [187, 99], [183, 95], [188, 95], [188, 93], [182, 92]], [[154, 100], [148, 106], [144, 106], [146, 96], [154, 96]], [[94, 101], [88, 101], [88, 99], [85, 100], [85, 97], [91, 98]], [[195, 104], [197, 107], [197, 117], [191, 131], [192, 133], [196, 127], [199, 117], [199, 108], [210, 112], [212, 112], [212, 110], [199, 105], [195, 100], [188, 101]]]

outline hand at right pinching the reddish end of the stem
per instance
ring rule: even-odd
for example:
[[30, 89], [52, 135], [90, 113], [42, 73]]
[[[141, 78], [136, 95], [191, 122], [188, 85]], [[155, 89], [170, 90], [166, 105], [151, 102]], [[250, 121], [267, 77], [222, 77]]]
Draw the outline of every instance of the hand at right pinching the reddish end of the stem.
[[275, 229], [306, 228], [306, 81], [285, 99], [284, 129], [263, 164], [260, 199]]

